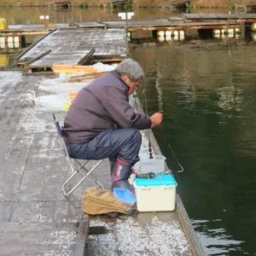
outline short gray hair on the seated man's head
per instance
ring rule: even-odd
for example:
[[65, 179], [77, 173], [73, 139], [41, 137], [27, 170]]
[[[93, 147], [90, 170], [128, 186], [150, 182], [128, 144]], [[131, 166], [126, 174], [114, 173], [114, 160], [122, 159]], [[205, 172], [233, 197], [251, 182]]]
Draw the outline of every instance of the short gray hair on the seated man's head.
[[120, 75], [128, 75], [133, 82], [138, 79], [143, 79], [144, 77], [143, 67], [141, 67], [137, 61], [132, 59], [125, 59], [120, 62], [119, 65], [114, 68], [114, 71]]

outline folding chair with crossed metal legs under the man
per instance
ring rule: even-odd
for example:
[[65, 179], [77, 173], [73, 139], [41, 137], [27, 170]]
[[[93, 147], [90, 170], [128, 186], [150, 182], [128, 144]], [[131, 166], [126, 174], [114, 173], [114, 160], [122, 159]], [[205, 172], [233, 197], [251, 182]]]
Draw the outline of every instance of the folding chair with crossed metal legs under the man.
[[[55, 113], [52, 113], [52, 115], [53, 115], [53, 119], [54, 119], [54, 122], [55, 122], [55, 127], [56, 127], [57, 134], [61, 138], [61, 145], [62, 145], [64, 156], [65, 156], [65, 158], [67, 160], [67, 163], [69, 164], [69, 166], [72, 170], [71, 176], [68, 177], [67, 180], [62, 185], [63, 195], [67, 196], [67, 195], [70, 195], [71, 193], [73, 193], [73, 191], [79, 187], [79, 184], [82, 183], [85, 178], [88, 181], [90, 181], [90, 183], [93, 183], [97, 187], [100, 187], [100, 188], [104, 189], [102, 183], [100, 183], [96, 179], [96, 177], [94, 177], [93, 174], [92, 174], [92, 172], [96, 169], [96, 167], [100, 165], [102, 160], [97, 160], [96, 164], [89, 169], [88, 167], [86, 167], [86, 165], [89, 163], [89, 160], [83, 160], [84, 162], [82, 164], [80, 162], [82, 160], [78, 160], [78, 159], [74, 159], [74, 158], [70, 157], [70, 155], [67, 152], [67, 145], [65, 143], [65, 134], [61, 129], [60, 122], [56, 119]], [[73, 177], [77, 176], [77, 174], [79, 174], [79, 173], [83, 176], [82, 178], [79, 179], [79, 182], [73, 184], [73, 186], [70, 185], [71, 186], [70, 189], [66, 189], [66, 186], [68, 186], [68, 183], [71, 183]]]

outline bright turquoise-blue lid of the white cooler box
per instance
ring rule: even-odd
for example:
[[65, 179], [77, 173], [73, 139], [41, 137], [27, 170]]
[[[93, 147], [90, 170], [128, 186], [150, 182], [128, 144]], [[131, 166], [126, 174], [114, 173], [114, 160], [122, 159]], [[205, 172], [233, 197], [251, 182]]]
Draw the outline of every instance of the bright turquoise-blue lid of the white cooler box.
[[173, 186], [177, 185], [177, 182], [172, 174], [158, 174], [154, 178], [141, 178], [136, 177], [135, 183], [137, 187], [152, 187], [152, 186]]

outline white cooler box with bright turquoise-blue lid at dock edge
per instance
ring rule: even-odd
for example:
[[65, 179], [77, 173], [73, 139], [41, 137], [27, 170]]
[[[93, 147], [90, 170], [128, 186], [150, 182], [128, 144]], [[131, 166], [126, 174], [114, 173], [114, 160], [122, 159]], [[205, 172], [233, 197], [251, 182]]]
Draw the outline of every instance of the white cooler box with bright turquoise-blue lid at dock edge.
[[177, 182], [172, 174], [154, 178], [135, 178], [134, 188], [139, 212], [174, 211]]

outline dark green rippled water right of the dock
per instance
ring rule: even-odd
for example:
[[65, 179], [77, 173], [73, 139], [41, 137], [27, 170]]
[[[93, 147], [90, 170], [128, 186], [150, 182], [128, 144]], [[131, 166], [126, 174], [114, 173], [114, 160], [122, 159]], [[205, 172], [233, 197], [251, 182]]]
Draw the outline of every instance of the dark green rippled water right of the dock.
[[207, 254], [256, 255], [256, 44], [137, 46], [132, 56], [147, 74], [148, 112], [164, 111], [154, 134]]

